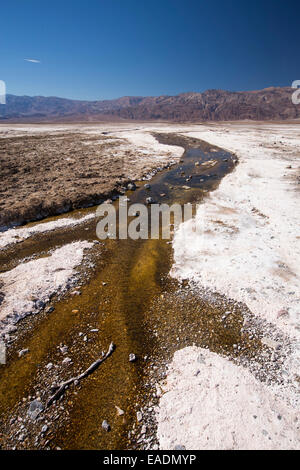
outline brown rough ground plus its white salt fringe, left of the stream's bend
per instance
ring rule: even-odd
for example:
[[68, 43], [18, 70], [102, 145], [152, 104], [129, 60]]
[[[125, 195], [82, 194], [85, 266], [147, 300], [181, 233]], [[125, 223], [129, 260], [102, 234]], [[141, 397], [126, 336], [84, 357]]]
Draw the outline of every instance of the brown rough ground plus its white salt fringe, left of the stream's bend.
[[[145, 126], [0, 126], [0, 229], [95, 205], [178, 160]], [[130, 132], [129, 132], [130, 131]]]

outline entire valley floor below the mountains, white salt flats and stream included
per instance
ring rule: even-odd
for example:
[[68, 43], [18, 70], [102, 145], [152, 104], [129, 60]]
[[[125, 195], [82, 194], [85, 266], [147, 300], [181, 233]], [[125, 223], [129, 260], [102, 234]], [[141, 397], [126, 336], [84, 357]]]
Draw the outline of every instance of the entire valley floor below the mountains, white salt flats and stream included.
[[[300, 448], [299, 123], [1, 124], [0, 161], [2, 449]], [[99, 240], [120, 196], [197, 212]]]

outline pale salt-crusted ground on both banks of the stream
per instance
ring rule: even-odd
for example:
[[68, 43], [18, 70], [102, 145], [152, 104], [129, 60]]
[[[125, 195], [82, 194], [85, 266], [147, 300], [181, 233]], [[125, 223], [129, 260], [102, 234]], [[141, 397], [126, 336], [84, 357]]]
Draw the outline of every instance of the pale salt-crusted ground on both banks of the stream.
[[[1, 143], [7, 141], [9, 150], [15, 148], [16, 142], [24, 145], [16, 139], [28, 137], [24, 141], [30, 155], [26, 165], [30, 164], [33, 171], [35, 161], [37, 168], [46, 163], [49, 166], [46, 151], [51, 147], [53, 172], [39, 181], [40, 187], [32, 187], [32, 174], [23, 175], [26, 184], [20, 193], [16, 192], [20, 214], [24, 196], [27, 201], [34, 189], [38, 199], [47, 195], [47, 201], [53, 204], [59, 199], [60, 209], [70, 194], [75, 202], [83, 190], [84, 197], [95, 191], [107, 194], [117, 181], [140, 178], [157, 167], [178, 161], [183, 149], [159, 144], [153, 132], [203, 139], [235, 152], [239, 159], [233, 172], [199, 205], [196, 219], [182, 224], [175, 232], [170, 274], [189, 280], [196, 288], [207, 288], [243, 303], [257, 318], [275, 325], [291, 347], [289, 357], [280, 366], [284, 383], [276, 386], [262, 384], [246, 366], [233, 364], [229, 358], [208, 350], [188, 347], [177, 351], [162, 384], [165, 393], [157, 412], [160, 446], [299, 448], [299, 124], [2, 125]], [[49, 141], [50, 135], [53, 141]], [[38, 148], [36, 137], [40, 138]], [[25, 150], [18, 150], [18, 155]], [[44, 159], [40, 159], [37, 150]], [[18, 165], [18, 160], [14, 164]], [[60, 165], [67, 172], [60, 172]], [[91, 168], [93, 175], [88, 177]], [[7, 193], [9, 209], [9, 198], [15, 196], [12, 170]], [[66, 177], [74, 192], [63, 185]], [[31, 199], [27, 202], [30, 209]], [[43, 209], [47, 213], [47, 207]], [[27, 214], [34, 215], [31, 210]], [[72, 229], [85, 220], [64, 217], [11, 229], [0, 234], [0, 246], [5, 249], [56, 228]], [[32, 297], [46, 300], [52, 292], [63, 289], [82, 263], [86, 248], [90, 245], [83, 240], [76, 246], [65, 245], [46, 258], [21, 262], [1, 274], [5, 294], [1, 318], [13, 311], [30, 310]], [[276, 352], [280, 345], [268, 331], [262, 330], [261, 336]]]

